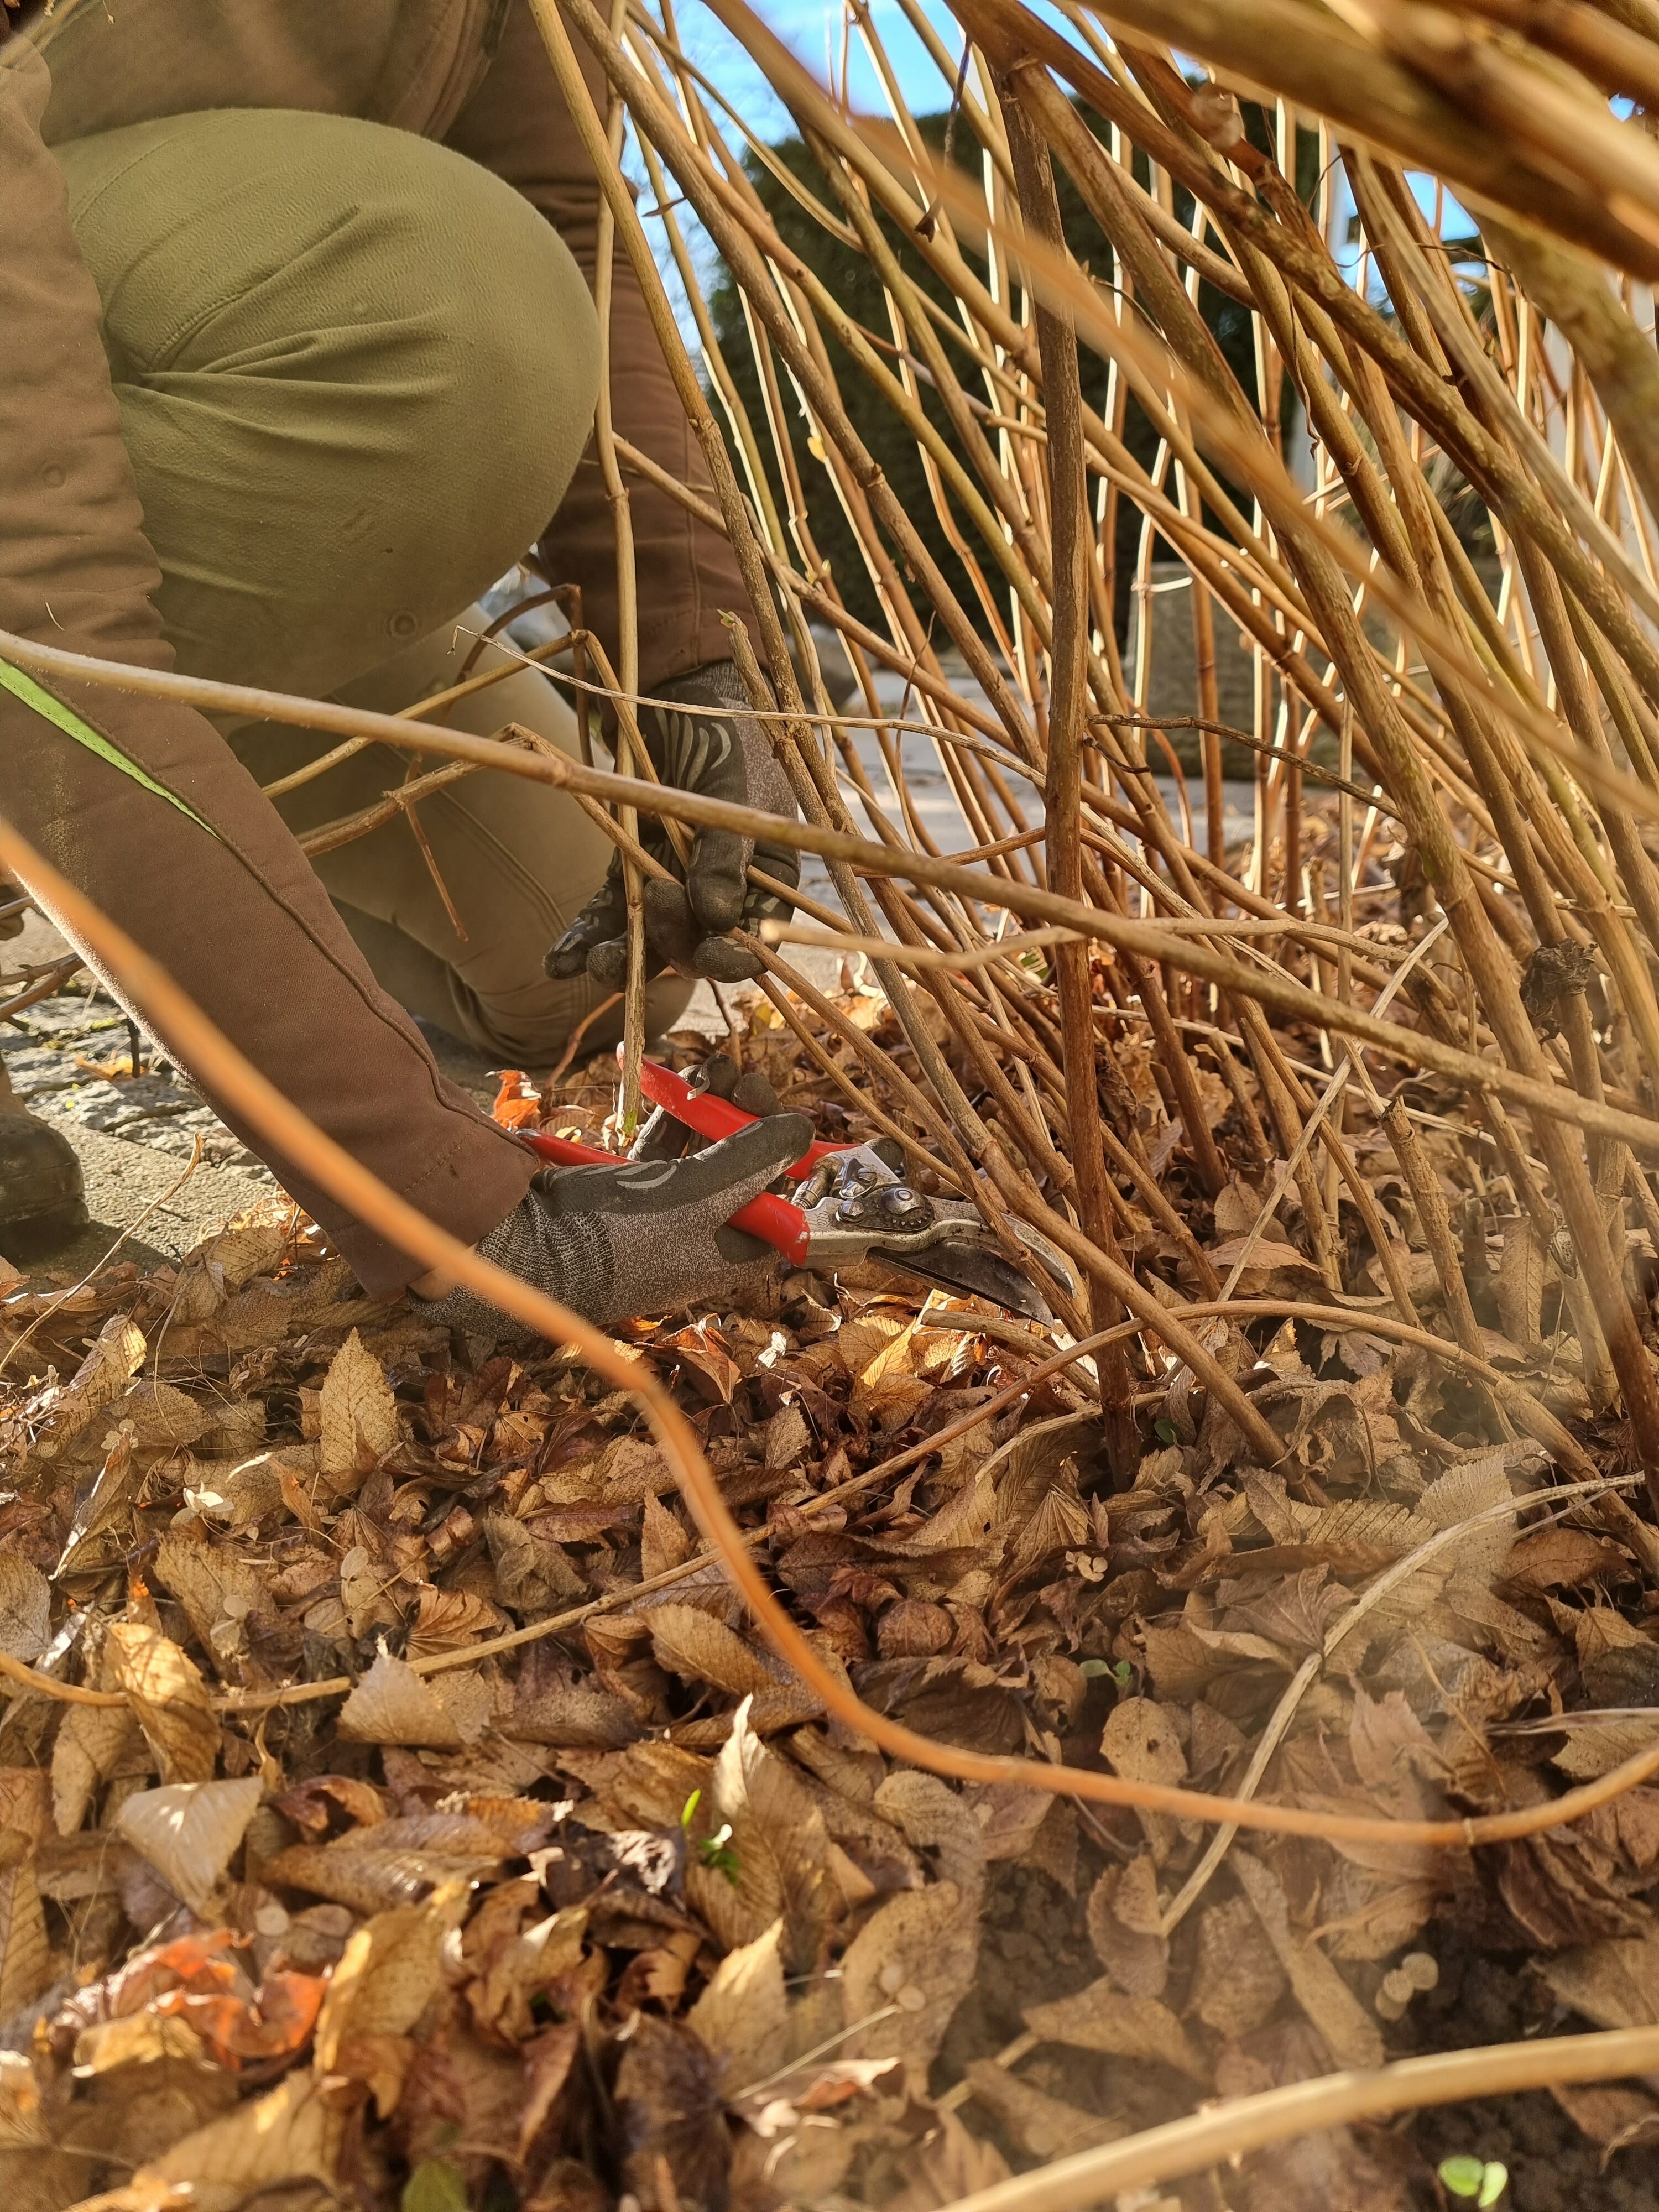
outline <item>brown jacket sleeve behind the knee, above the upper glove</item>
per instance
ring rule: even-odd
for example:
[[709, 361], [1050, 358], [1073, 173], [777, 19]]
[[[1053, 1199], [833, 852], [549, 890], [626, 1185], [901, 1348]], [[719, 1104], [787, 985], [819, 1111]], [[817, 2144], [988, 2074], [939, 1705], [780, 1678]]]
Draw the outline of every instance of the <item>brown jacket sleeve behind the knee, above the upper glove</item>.
[[[604, 75], [580, 40], [575, 49], [604, 113]], [[447, 144], [524, 192], [593, 283], [599, 181], [560, 97], [526, 0], [511, 0], [489, 75], [451, 126]], [[611, 414], [622, 438], [650, 453], [681, 484], [712, 498], [708, 467], [622, 248], [611, 283]], [[639, 575], [639, 684], [650, 690], [686, 668], [730, 659], [719, 615], [721, 608], [748, 611], [748, 593], [726, 540], [695, 522], [668, 493], [633, 478], [628, 507]], [[617, 542], [593, 445], [542, 540], [542, 560], [555, 584], [582, 586], [586, 622], [615, 664]]]

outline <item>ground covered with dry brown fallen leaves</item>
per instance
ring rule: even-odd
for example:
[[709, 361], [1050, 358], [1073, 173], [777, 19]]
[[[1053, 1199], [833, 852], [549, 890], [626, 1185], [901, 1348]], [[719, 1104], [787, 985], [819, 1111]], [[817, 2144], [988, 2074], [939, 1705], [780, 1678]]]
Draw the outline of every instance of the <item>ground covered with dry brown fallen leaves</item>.
[[[880, 1000], [841, 1006], [900, 1051]], [[779, 1093], [863, 1135], [759, 1020], [741, 1051]], [[1148, 1152], [1225, 1274], [1265, 1170], [1217, 1077], [1241, 1166], [1203, 1208], [1137, 1051]], [[546, 1124], [602, 1135], [613, 1084], [580, 1068]], [[1425, 1141], [1491, 1356], [1619, 1471], [1571, 1285], [1486, 1219], [1471, 1146]], [[1352, 1144], [1433, 1310], [1391, 1155]], [[757, 1641], [628, 1394], [557, 1354], [471, 1363], [283, 1199], [64, 1292], [0, 1307], [0, 1650], [64, 1690], [13, 1679], [0, 1719], [15, 2212], [927, 2212], [1206, 2097], [1659, 2020], [1659, 1790], [1480, 1856], [1245, 1834], [1208, 1865], [1192, 1823], [958, 1790]], [[1329, 1303], [1283, 1230], [1239, 1294]], [[1546, 1453], [1347, 1303], [1347, 1329], [1225, 1338], [1276, 1471], [1144, 1371], [1128, 1489], [1093, 1369], [1029, 1383], [1048, 1338], [891, 1274], [794, 1274], [628, 1356], [825, 1659], [947, 1743], [1400, 1816], [1606, 1772], [1659, 1725], [1644, 1535], [1542, 1504]], [[1522, 2212], [1644, 2212], [1657, 2141], [1652, 2088], [1568, 2090], [1181, 2201], [1429, 2205], [1469, 2152]]]

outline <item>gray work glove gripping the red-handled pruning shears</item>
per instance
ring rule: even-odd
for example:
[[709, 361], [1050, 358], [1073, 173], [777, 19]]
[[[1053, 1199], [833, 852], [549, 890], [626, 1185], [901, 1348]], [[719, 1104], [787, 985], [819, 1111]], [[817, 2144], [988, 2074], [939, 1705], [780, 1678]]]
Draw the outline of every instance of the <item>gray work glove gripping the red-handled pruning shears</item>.
[[[478, 1250], [602, 1325], [701, 1298], [739, 1301], [779, 1254], [728, 1221], [805, 1152], [812, 1135], [805, 1115], [779, 1113], [686, 1159], [544, 1168]], [[418, 1301], [418, 1312], [493, 1343], [531, 1336], [471, 1290]]]

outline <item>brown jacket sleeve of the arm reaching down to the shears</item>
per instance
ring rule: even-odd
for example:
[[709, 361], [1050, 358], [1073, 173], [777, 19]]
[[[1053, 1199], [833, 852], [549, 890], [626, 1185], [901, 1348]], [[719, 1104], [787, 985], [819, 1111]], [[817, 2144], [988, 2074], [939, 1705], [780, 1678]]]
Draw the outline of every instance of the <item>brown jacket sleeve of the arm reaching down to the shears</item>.
[[[170, 668], [97, 290], [40, 142], [46, 93], [27, 44], [0, 49], [0, 630]], [[7, 818], [323, 1130], [458, 1237], [487, 1234], [535, 1161], [442, 1082], [217, 730], [190, 708], [106, 686], [53, 679], [46, 690], [42, 712], [0, 659]], [[69, 734], [53, 699], [146, 781]], [[330, 1230], [365, 1290], [387, 1294], [418, 1272], [259, 1137], [239, 1135]]]

